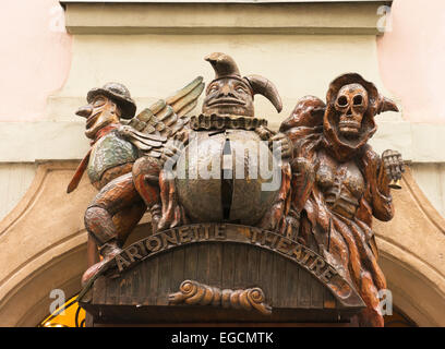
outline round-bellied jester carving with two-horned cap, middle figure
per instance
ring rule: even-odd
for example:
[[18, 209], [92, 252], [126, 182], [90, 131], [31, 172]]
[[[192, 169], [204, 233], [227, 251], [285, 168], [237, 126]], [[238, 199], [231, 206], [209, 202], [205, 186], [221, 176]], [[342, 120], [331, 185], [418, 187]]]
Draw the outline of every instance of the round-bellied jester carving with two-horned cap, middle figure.
[[[281, 110], [278, 92], [275, 85], [263, 76], [242, 77], [233, 59], [225, 53], [212, 53], [206, 60], [212, 63], [216, 76], [206, 87], [202, 115], [192, 118], [190, 128], [184, 128], [181, 137], [176, 137], [177, 142], [171, 142], [164, 155], [167, 160], [172, 161], [173, 172], [176, 161], [179, 167], [187, 164], [188, 169], [195, 167], [196, 172], [202, 173], [215, 159], [217, 165], [220, 165], [220, 173], [217, 173], [220, 176], [215, 179], [201, 174], [193, 179], [178, 178], [171, 170], [163, 170], [159, 177], [163, 215], [157, 230], [201, 221], [238, 221], [276, 230], [279, 227], [276, 217], [281, 217], [286, 210], [282, 203], [285, 198], [281, 196], [285, 196], [282, 192], [288, 190], [289, 180], [285, 181], [287, 185], [284, 185], [284, 189], [262, 191], [262, 178], [241, 178], [239, 173], [234, 174], [237, 160], [233, 153], [237, 147], [240, 152], [244, 147], [250, 151], [249, 147], [256, 147], [261, 141], [268, 141], [272, 148], [274, 141], [280, 141], [277, 152], [285, 159], [291, 155], [292, 145], [289, 139], [282, 133], [277, 134], [268, 130], [266, 120], [254, 117], [255, 94], [265, 96], [277, 111]], [[196, 154], [190, 152], [191, 142], [196, 142]], [[214, 146], [205, 147], [208, 143]], [[222, 164], [226, 156], [231, 163], [229, 168], [225, 168]], [[147, 167], [144, 161], [140, 159], [135, 166], [135, 182], [142, 184], [141, 193], [145, 191], [143, 183], [147, 182], [144, 180], [146, 173], [143, 169]], [[246, 161], [249, 167], [244, 154], [242, 161]], [[285, 178], [290, 178], [288, 163], [284, 165], [282, 173]], [[142, 196], [144, 197], [144, 194]], [[246, 202], [250, 202], [250, 205], [245, 205]]]

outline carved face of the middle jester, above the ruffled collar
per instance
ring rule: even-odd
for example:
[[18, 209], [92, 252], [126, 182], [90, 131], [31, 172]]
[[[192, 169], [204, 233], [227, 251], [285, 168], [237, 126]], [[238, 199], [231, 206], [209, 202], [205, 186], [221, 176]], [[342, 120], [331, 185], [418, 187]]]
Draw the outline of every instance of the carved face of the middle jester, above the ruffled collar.
[[206, 91], [203, 113], [236, 115], [252, 117], [253, 95], [246, 83], [232, 77], [212, 82]]

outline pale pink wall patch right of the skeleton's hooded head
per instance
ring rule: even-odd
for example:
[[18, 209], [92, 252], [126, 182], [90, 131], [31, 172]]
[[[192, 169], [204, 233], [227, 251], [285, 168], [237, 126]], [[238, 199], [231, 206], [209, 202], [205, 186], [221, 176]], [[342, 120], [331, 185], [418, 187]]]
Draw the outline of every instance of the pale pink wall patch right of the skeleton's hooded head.
[[378, 38], [382, 79], [404, 105], [404, 118], [445, 123], [445, 1], [395, 0]]

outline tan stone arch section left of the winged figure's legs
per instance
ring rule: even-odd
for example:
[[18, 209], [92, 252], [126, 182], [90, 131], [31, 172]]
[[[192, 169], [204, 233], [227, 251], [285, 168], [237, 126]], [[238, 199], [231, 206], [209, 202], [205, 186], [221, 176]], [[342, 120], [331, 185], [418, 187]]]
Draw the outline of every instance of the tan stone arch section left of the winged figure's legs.
[[94, 196], [87, 180], [67, 194], [75, 161], [40, 164], [17, 206], [0, 222], [0, 325], [36, 326], [52, 289], [69, 299], [86, 267], [82, 212]]

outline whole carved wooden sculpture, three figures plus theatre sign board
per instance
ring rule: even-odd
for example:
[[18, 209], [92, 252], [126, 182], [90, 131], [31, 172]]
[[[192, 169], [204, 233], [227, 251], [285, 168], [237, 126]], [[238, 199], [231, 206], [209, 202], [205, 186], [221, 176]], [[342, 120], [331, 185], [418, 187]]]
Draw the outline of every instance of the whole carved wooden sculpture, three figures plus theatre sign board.
[[[201, 77], [135, 117], [134, 101], [120, 84], [93, 89], [77, 111], [94, 141], [69, 191], [87, 168], [100, 191], [85, 226], [104, 256], [83, 277], [88, 284], [82, 304], [100, 317], [120, 288], [120, 304], [145, 304], [146, 313], [131, 313], [144, 320], [157, 316], [157, 305], [178, 306], [180, 314], [187, 312], [181, 305], [214, 305], [225, 308], [218, 318], [244, 316], [254, 308], [260, 313], [245, 318], [268, 314], [277, 322], [305, 316], [339, 322], [360, 311], [361, 325], [382, 326], [378, 291], [386, 281], [372, 217], [393, 217], [390, 188], [404, 169], [399, 153], [380, 157], [368, 141], [376, 131], [374, 117], [396, 105], [359, 74], [345, 74], [329, 85], [326, 104], [302, 98], [275, 132], [253, 105], [261, 94], [279, 112], [275, 85], [260, 75], [241, 76], [225, 53], [206, 60], [216, 76], [199, 116], [187, 112], [204, 88]], [[279, 178], [267, 190], [255, 152], [265, 154], [273, 178]], [[152, 234], [122, 250], [146, 209]], [[234, 251], [249, 254], [252, 265], [236, 264]], [[280, 287], [270, 284], [270, 273]], [[148, 294], [141, 294], [148, 284], [140, 280], [149, 282]], [[87, 294], [91, 288], [96, 298]], [[277, 309], [275, 317], [267, 304]]]

